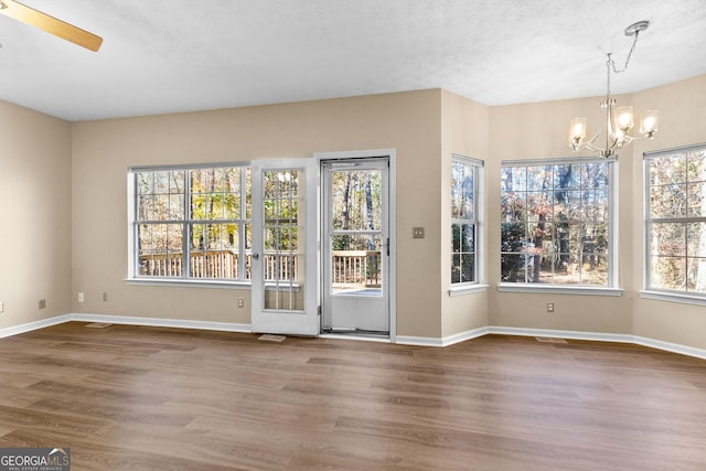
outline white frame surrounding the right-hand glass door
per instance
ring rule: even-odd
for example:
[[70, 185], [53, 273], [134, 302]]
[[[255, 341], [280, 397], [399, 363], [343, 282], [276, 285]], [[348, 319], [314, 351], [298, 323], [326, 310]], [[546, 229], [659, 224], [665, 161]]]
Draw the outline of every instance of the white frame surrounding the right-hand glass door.
[[[317, 161], [318, 173], [318, 196], [317, 196], [317, 246], [319, 250], [317, 253], [317, 286], [319, 287], [319, 293], [317, 301], [319, 307], [323, 302], [323, 270], [322, 270], [322, 214], [323, 214], [323, 196], [322, 196], [322, 175], [321, 163], [322, 161], [335, 161], [335, 160], [353, 160], [353, 159], [381, 159], [387, 158], [389, 162], [388, 172], [388, 235], [389, 235], [389, 275], [387, 277], [388, 282], [388, 306], [387, 313], [389, 315], [389, 342], [395, 343], [397, 338], [397, 188], [396, 188], [396, 174], [397, 174], [397, 159], [396, 149], [368, 149], [368, 150], [352, 150], [342, 152], [315, 152], [314, 159]], [[319, 329], [323, 330], [323, 318], [319, 315]]]

